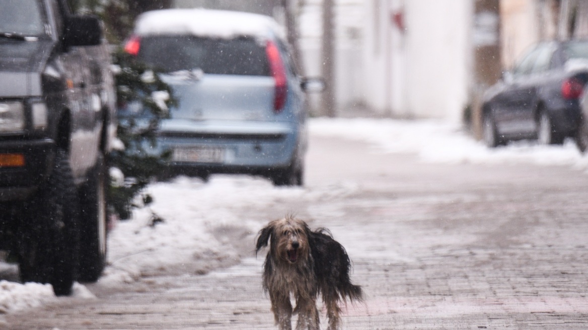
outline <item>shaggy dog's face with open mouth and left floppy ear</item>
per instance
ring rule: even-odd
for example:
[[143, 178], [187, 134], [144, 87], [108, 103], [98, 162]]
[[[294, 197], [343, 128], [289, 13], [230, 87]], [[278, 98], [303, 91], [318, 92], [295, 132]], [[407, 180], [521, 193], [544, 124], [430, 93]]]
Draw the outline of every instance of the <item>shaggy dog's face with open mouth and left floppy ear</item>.
[[270, 253], [276, 260], [289, 264], [305, 261], [309, 252], [308, 231], [302, 220], [288, 217], [272, 221], [259, 232], [257, 251], [267, 246], [270, 239]]

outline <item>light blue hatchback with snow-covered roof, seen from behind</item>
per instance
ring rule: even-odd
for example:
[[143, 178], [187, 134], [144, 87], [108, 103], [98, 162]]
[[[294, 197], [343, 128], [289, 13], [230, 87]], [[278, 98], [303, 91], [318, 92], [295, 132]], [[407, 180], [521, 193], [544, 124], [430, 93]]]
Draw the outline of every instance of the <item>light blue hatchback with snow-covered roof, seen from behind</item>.
[[166, 72], [161, 79], [179, 102], [158, 134], [158, 150], [172, 151], [171, 174], [246, 173], [302, 186], [305, 92], [322, 82], [296, 74], [272, 18], [207, 9], [146, 12], [125, 49]]

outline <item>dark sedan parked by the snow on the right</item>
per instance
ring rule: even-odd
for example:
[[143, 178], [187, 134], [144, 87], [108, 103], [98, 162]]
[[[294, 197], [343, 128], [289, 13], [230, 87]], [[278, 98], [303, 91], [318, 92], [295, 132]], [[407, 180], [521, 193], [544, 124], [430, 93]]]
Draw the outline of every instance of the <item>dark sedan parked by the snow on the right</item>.
[[483, 139], [561, 144], [577, 137], [580, 96], [588, 81], [588, 41], [541, 42], [483, 97]]

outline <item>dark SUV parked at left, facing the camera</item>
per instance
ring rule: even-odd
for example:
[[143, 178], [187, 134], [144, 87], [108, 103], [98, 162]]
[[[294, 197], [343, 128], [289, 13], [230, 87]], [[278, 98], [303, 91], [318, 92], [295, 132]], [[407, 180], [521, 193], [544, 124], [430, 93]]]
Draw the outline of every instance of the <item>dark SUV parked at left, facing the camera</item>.
[[65, 0], [0, 2], [0, 250], [71, 293], [106, 259], [115, 89], [101, 22]]

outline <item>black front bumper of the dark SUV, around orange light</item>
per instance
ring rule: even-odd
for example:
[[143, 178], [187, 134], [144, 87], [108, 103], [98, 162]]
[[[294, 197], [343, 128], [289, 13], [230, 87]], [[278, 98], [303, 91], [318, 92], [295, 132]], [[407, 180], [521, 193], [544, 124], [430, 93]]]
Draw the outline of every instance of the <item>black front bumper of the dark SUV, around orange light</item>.
[[25, 200], [48, 173], [54, 155], [53, 140], [18, 140], [0, 142], [1, 155], [22, 155], [24, 164], [0, 166], [0, 201]]

